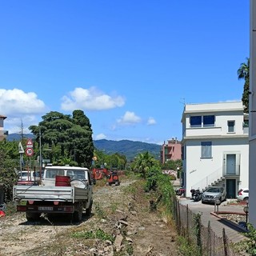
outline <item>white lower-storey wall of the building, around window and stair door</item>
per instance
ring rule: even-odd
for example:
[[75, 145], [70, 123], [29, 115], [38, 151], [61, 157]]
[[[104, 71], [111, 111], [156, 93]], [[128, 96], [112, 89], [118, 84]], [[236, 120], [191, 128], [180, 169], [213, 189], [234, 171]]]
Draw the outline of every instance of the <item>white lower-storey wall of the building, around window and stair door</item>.
[[[206, 140], [204, 140], [206, 141]], [[202, 140], [186, 142], [186, 191], [190, 196], [191, 188], [205, 188], [210, 182], [223, 176], [224, 154], [241, 154], [240, 158], [240, 180], [237, 190], [248, 186], [248, 139], [215, 139], [212, 142], [213, 158], [201, 158]]]

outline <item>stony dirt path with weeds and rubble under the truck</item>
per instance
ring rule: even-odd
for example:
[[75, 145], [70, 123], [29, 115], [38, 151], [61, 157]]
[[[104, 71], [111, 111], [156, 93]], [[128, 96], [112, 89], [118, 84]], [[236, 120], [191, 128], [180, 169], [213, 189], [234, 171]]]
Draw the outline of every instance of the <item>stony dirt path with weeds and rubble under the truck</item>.
[[64, 216], [26, 222], [20, 213], [0, 218], [0, 255], [178, 255], [176, 231], [149, 211], [142, 194], [127, 193], [131, 183], [96, 186], [93, 214], [81, 223]]

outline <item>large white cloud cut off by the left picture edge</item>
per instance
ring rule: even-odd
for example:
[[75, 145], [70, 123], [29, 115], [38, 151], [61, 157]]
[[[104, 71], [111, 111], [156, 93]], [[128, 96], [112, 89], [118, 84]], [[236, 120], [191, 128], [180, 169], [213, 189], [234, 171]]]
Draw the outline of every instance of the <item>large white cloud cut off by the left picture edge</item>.
[[38, 95], [33, 92], [26, 93], [19, 89], [0, 89], [2, 115], [18, 117], [21, 114], [41, 114], [45, 109], [45, 103], [38, 99]]

